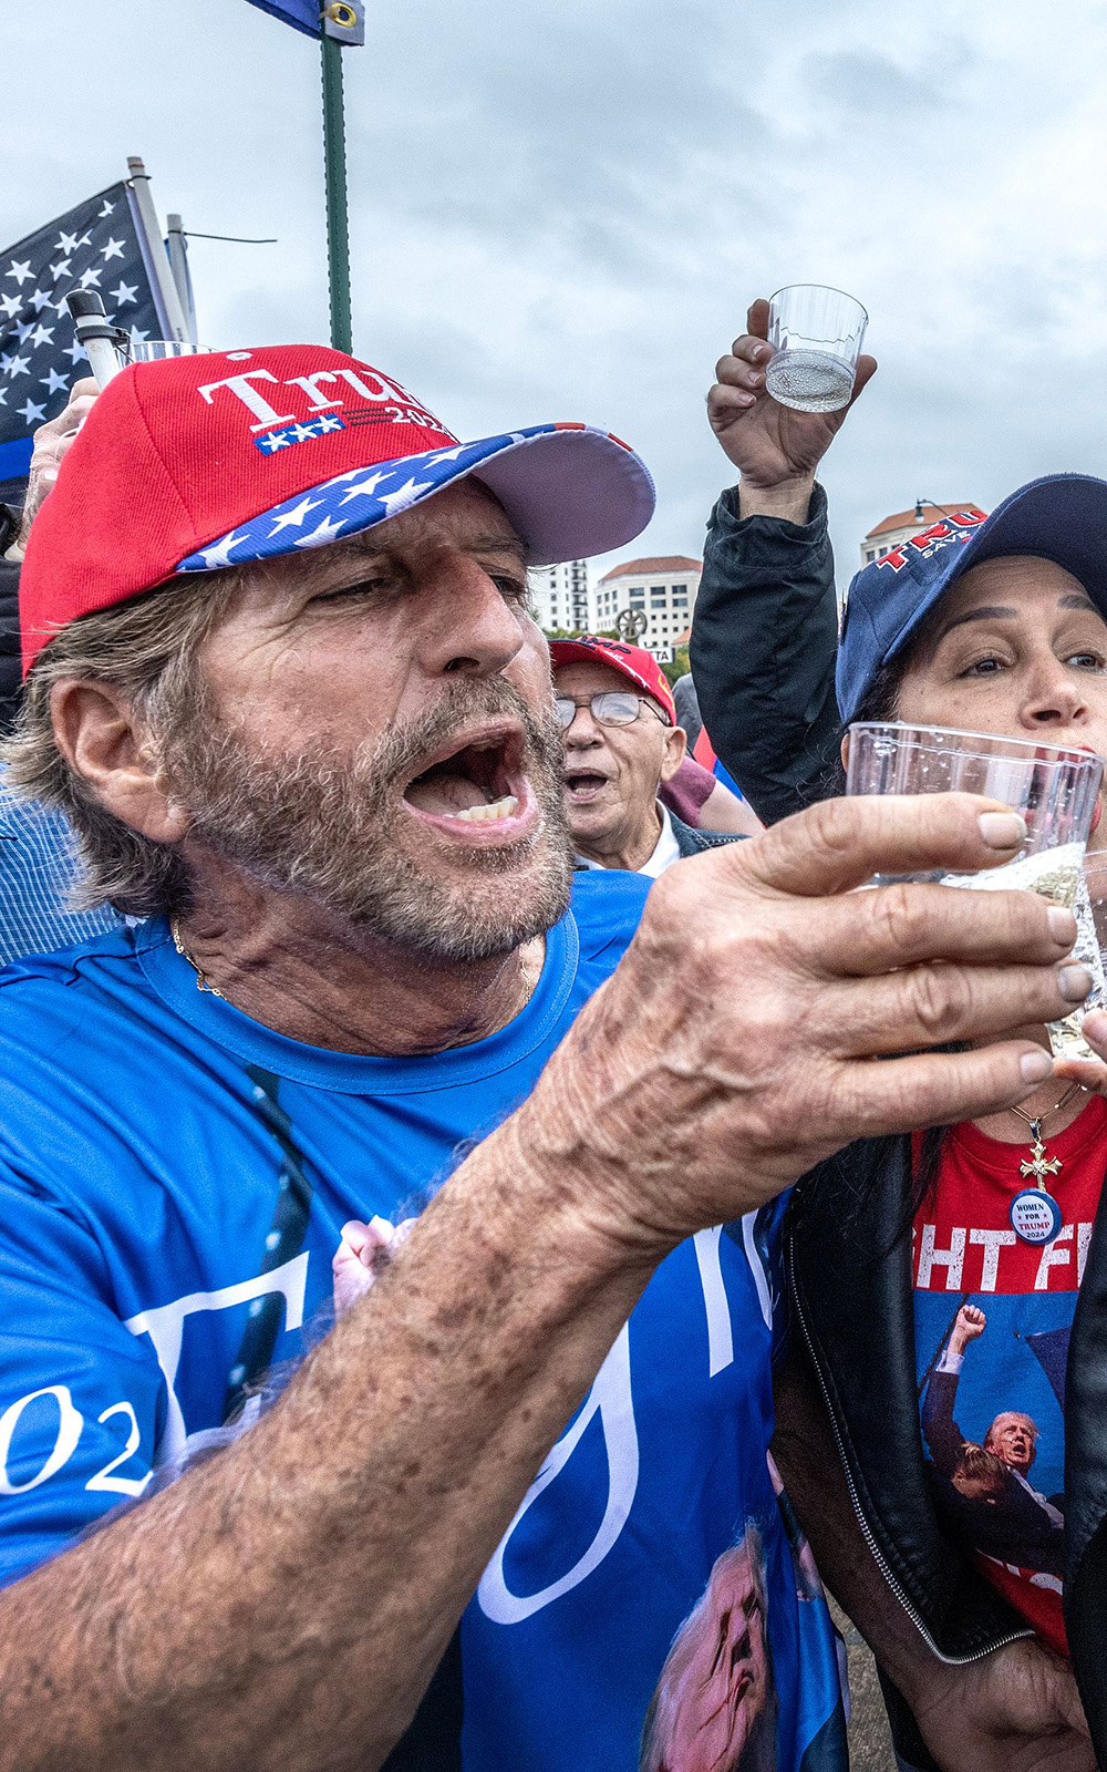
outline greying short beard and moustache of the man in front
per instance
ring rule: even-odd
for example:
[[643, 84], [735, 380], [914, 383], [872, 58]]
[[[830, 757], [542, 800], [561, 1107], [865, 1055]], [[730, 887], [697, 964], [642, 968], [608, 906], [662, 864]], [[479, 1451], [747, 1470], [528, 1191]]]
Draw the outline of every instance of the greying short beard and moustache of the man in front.
[[[354, 929], [429, 960], [484, 960], [544, 934], [569, 905], [572, 845], [563, 806], [561, 732], [503, 677], [459, 684], [418, 721], [356, 751], [308, 741], [292, 753], [252, 748], [244, 732], [191, 702], [163, 762], [198, 840], [275, 891], [314, 898]], [[429, 874], [404, 849], [409, 813], [397, 781], [475, 718], [512, 714], [526, 732], [538, 829], [510, 849], [473, 847], [468, 879]], [[455, 863], [455, 865], [457, 865]], [[508, 882], [496, 891], [498, 881]]]

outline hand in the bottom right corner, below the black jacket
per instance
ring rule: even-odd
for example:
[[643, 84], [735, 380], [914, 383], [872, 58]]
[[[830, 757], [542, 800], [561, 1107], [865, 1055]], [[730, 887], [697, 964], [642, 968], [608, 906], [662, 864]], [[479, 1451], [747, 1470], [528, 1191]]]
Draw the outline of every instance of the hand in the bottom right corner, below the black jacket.
[[1031, 1637], [942, 1669], [912, 1708], [944, 1772], [1096, 1772], [1072, 1667]]

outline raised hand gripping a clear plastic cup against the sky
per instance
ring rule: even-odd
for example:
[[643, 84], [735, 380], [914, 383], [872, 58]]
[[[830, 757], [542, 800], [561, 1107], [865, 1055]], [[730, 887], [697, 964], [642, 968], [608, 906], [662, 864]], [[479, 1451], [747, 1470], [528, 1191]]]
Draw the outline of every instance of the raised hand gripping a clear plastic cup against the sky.
[[854, 397], [841, 411], [795, 413], [765, 392], [765, 367], [772, 358], [767, 301], [753, 303], [746, 326], [749, 330], [735, 338], [730, 354], [716, 363], [716, 385], [707, 395], [710, 427], [740, 471], [744, 494], [806, 487], [809, 496], [815, 470], [873, 376], [877, 360], [857, 358]]

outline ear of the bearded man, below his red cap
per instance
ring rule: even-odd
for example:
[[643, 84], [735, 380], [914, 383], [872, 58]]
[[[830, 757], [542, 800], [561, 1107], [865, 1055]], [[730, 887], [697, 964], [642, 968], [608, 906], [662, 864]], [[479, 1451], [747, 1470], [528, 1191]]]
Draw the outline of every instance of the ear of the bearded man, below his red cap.
[[105, 812], [154, 843], [184, 836], [190, 817], [172, 801], [131, 707], [113, 684], [62, 677], [50, 691], [50, 714], [62, 757]]

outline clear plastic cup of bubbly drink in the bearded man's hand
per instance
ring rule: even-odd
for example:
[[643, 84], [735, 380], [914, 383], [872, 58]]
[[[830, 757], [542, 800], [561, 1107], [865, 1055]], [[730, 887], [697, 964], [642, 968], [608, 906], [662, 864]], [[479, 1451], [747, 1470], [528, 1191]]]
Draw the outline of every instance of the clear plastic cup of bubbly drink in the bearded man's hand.
[[[850, 727], [847, 794], [985, 794], [1026, 820], [1026, 843], [1002, 867], [979, 874], [877, 874], [870, 884], [932, 881], [974, 891], [1022, 890], [1075, 911], [1075, 959], [1091, 971], [1093, 992], [1079, 1010], [1050, 1024], [1056, 1058], [1095, 1058], [1080, 1038], [1079, 1024], [1103, 999], [1103, 964], [1084, 874], [1084, 847], [1102, 780], [1103, 762], [1091, 751], [902, 721], [859, 721]], [[1107, 858], [1102, 884], [1107, 930]]]

